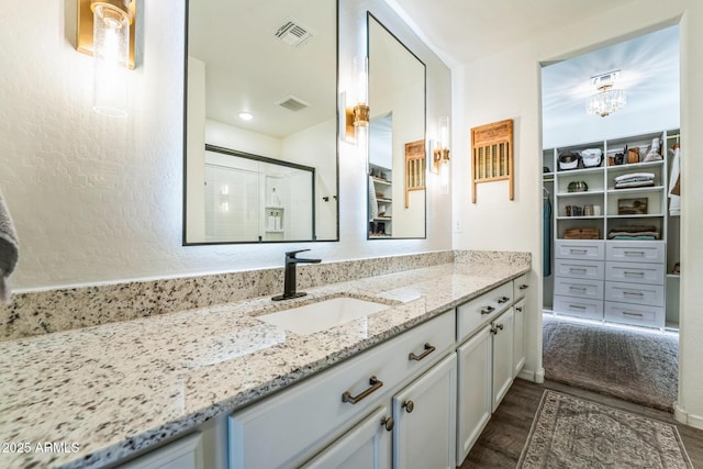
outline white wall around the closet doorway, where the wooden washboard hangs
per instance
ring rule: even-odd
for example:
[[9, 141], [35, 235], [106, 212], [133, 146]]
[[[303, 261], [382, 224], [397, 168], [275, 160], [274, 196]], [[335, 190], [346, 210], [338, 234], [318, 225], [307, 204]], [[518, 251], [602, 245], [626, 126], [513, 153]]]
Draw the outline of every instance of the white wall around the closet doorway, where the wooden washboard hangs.
[[[503, 54], [453, 70], [455, 111], [454, 208], [455, 248], [517, 249], [533, 253], [533, 275], [542, 277], [542, 142], [539, 63], [566, 58], [576, 52], [614, 43], [618, 37], [681, 25], [681, 334], [678, 417], [703, 427], [703, 2], [700, 0], [640, 0], [611, 10], [601, 18], [577, 21], [563, 30], [526, 37]], [[579, 34], [573, 32], [578, 31]], [[501, 119], [515, 120], [515, 200], [507, 200], [504, 183], [479, 185], [478, 204], [470, 203], [469, 130]], [[542, 309], [538, 291], [532, 311]], [[540, 364], [538, 319], [531, 331], [527, 368]]]

